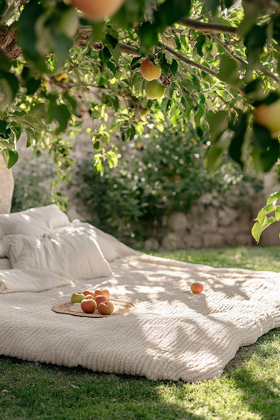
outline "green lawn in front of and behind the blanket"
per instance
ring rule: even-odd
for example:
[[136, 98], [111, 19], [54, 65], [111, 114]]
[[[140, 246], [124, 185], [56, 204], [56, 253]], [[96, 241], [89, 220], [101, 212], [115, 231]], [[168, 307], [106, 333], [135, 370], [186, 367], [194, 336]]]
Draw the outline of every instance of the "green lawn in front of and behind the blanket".
[[[280, 271], [280, 247], [155, 251], [177, 260]], [[242, 347], [220, 378], [148, 381], [0, 357], [0, 420], [279, 420], [280, 328]]]

